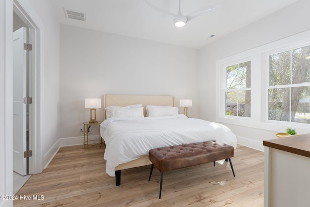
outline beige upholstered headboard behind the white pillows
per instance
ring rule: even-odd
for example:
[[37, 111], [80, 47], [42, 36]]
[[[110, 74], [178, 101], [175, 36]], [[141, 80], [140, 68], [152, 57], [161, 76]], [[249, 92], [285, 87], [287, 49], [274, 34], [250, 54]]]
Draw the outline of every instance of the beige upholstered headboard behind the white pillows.
[[[127, 106], [132, 104], [142, 104], [144, 116], [147, 105], [174, 106], [174, 96], [146, 96], [146, 95], [105, 95], [104, 108], [108, 106]], [[106, 110], [104, 110], [106, 118]]]

